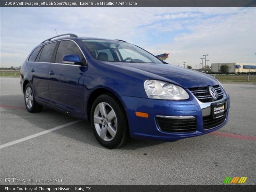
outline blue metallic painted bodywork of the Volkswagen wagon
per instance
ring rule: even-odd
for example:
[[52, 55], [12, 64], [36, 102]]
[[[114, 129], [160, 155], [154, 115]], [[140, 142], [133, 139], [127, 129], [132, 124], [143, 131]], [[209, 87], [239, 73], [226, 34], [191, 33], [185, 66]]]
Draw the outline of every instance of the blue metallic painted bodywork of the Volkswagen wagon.
[[[94, 59], [84, 46], [81, 41], [83, 38], [65, 37], [58, 41], [62, 39], [72, 39], [80, 46], [87, 60], [86, 66], [41, 63], [40, 67], [37, 65], [35, 72], [31, 72], [37, 63], [26, 60], [21, 68], [20, 84], [23, 87], [24, 81], [28, 80], [33, 85], [36, 101], [40, 104], [88, 119], [88, 98], [95, 90], [106, 89], [116, 95], [123, 104], [129, 122], [130, 136], [145, 140], [173, 141], [194, 137], [215, 131], [227, 123], [228, 115], [220, 126], [204, 130], [200, 105], [186, 89], [219, 84], [212, 76], [170, 64], [99, 61]], [[53, 75], [49, 74], [51, 71], [54, 71]], [[187, 90], [189, 99], [180, 101], [148, 99], [143, 85], [147, 79], [177, 84]], [[224, 94], [228, 98], [229, 108], [228, 94], [226, 92]], [[135, 111], [148, 113], [149, 118], [138, 117]], [[229, 109], [227, 111], [229, 112]], [[196, 132], [163, 132], [157, 127], [156, 115], [195, 116]]]

